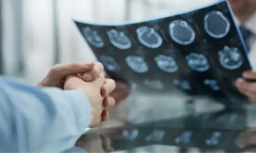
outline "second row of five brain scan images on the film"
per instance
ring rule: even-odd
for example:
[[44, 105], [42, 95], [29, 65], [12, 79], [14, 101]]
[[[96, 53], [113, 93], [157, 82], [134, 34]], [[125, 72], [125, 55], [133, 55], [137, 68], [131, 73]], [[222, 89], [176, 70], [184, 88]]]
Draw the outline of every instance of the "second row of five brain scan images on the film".
[[[225, 46], [218, 52], [220, 65], [228, 70], [235, 70], [243, 65], [243, 57], [241, 51], [236, 47]], [[112, 72], [119, 72], [120, 66], [115, 61], [114, 57], [108, 55], [101, 55], [99, 57], [103, 65]], [[188, 66], [197, 72], [205, 72], [210, 68], [207, 58], [201, 53], [191, 52], [185, 59]], [[159, 54], [154, 57], [156, 66], [167, 73], [176, 72], [179, 69], [177, 62], [172, 56]], [[146, 73], [149, 71], [149, 66], [142, 56], [127, 55], [125, 57], [127, 66], [136, 73]]]

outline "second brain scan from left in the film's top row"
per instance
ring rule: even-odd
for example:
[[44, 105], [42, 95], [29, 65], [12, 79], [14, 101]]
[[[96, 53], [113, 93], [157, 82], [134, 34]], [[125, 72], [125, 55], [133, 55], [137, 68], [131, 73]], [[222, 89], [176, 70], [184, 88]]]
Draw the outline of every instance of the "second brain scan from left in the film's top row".
[[131, 47], [131, 40], [125, 35], [124, 32], [111, 29], [107, 32], [110, 43], [119, 49], [128, 49]]

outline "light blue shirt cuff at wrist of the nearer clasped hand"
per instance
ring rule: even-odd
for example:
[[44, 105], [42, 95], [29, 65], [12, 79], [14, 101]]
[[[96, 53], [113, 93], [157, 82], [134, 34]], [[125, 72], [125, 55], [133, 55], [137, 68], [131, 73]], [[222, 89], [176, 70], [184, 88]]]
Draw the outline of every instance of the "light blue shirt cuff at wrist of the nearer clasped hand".
[[82, 91], [65, 90], [68, 97], [73, 102], [74, 111], [77, 118], [79, 132], [82, 134], [89, 127], [91, 122], [91, 106], [87, 96]]

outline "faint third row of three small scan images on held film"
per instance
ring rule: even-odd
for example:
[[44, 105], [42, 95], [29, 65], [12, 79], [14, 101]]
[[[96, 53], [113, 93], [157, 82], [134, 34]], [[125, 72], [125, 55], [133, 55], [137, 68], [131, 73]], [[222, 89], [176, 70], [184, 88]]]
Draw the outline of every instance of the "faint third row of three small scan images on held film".
[[[146, 80], [143, 81], [143, 83], [144, 83], [144, 85], [150, 87], [151, 89], [155, 89], [155, 90], [164, 89], [164, 83], [162, 83], [161, 80], [148, 80], [148, 79], [146, 79]], [[173, 81], [173, 83], [177, 87], [181, 88], [184, 91], [192, 90], [192, 87], [191, 87], [188, 80], [177, 80], [177, 79], [175, 79]], [[214, 91], [219, 91], [220, 90], [219, 83], [215, 79], [205, 79], [205, 80], [203, 80], [203, 83], [206, 86], [210, 87]]]

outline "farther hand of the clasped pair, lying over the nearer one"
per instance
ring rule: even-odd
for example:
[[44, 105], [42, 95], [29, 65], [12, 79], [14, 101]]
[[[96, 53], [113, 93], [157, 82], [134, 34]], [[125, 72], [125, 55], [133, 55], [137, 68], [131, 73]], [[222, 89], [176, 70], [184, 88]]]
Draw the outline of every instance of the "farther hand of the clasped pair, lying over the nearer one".
[[44, 79], [38, 83], [38, 85], [59, 87], [63, 89], [65, 78], [68, 75], [83, 74], [83, 80], [89, 82], [95, 80], [103, 69], [103, 65], [99, 62], [57, 64], [49, 71]]

